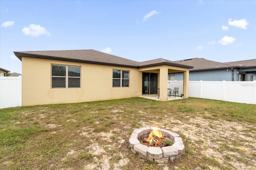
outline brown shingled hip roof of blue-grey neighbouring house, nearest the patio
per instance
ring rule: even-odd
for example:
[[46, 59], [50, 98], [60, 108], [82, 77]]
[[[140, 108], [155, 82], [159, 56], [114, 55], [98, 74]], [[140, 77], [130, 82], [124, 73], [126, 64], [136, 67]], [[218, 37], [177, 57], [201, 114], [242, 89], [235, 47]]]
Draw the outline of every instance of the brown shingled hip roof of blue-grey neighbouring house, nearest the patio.
[[218, 69], [228, 69], [236, 67], [233, 64], [220, 63], [216, 61], [210, 61], [202, 58], [193, 58], [175, 61], [175, 63], [180, 63], [184, 65], [194, 66], [190, 71], [199, 71], [199, 70], [218, 70]]

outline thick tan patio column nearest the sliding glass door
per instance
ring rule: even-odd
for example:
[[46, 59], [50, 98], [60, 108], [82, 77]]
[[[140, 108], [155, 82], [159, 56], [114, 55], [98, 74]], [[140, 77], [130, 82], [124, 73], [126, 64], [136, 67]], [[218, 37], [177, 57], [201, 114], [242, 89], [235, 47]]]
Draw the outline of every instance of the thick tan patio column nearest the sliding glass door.
[[160, 88], [160, 101], [167, 101], [167, 80], [168, 80], [168, 67], [162, 66], [159, 74], [159, 88]]

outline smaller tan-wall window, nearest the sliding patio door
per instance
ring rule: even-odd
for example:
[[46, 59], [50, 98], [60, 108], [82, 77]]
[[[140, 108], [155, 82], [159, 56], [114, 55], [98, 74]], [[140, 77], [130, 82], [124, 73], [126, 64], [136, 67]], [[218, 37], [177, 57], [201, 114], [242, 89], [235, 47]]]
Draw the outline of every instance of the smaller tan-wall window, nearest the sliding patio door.
[[113, 87], [129, 87], [129, 71], [113, 70]]

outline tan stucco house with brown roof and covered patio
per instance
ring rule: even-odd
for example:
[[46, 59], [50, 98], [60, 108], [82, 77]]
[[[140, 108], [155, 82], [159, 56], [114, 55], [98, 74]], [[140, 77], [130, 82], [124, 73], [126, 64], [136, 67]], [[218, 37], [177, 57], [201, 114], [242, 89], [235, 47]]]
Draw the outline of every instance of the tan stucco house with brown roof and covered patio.
[[183, 72], [184, 98], [188, 98], [189, 69], [193, 68], [162, 58], [137, 62], [92, 49], [14, 54], [22, 61], [22, 106], [131, 98], [158, 92], [159, 100], [167, 101], [169, 72]]

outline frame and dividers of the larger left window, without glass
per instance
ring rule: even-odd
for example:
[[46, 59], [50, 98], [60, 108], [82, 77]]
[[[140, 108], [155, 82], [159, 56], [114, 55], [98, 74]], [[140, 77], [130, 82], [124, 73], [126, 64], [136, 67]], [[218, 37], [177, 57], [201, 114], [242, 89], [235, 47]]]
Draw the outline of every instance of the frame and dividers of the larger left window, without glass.
[[[66, 67], [66, 76], [52, 76], [52, 66], [56, 65], [56, 66], [65, 66]], [[52, 89], [56, 89], [56, 88], [81, 88], [81, 66], [72, 66], [72, 67], [79, 67], [80, 69], [80, 76], [68, 76], [68, 67], [71, 65], [62, 65], [62, 64], [51, 64], [51, 88]], [[65, 77], [65, 87], [52, 87], [52, 78], [53, 77]], [[68, 78], [79, 78], [80, 79], [80, 84], [79, 87], [68, 87]]]

